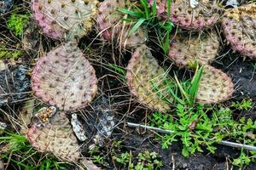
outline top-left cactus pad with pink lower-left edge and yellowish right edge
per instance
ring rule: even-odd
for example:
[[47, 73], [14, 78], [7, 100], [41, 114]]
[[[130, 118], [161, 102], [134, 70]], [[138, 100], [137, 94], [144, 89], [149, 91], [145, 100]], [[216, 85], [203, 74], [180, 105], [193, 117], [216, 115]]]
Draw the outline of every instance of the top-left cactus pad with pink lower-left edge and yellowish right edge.
[[90, 31], [97, 3], [97, 0], [32, 0], [32, 12], [47, 36], [72, 39]]

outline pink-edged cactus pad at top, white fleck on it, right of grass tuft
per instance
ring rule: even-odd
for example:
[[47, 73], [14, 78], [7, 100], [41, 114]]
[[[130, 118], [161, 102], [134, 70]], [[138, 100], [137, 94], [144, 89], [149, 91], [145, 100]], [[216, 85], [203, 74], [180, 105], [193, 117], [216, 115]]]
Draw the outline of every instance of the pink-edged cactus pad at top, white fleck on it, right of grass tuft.
[[[148, 0], [153, 5], [154, 0]], [[158, 14], [166, 19], [168, 5], [166, 0], [156, 0]], [[190, 1], [176, 0], [171, 3], [171, 20], [174, 24], [186, 29], [202, 30], [214, 25], [219, 18], [217, 0], [198, 0], [198, 4]]]

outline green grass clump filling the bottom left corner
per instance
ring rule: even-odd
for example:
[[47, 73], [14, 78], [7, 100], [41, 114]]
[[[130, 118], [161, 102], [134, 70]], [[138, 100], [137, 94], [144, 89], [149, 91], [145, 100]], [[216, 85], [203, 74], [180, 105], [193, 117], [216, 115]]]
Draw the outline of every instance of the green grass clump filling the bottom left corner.
[[1, 159], [9, 161], [9, 169], [69, 169], [72, 166], [61, 162], [55, 156], [45, 155], [34, 150], [27, 139], [16, 133], [4, 132], [0, 137], [0, 144], [4, 146], [1, 151]]

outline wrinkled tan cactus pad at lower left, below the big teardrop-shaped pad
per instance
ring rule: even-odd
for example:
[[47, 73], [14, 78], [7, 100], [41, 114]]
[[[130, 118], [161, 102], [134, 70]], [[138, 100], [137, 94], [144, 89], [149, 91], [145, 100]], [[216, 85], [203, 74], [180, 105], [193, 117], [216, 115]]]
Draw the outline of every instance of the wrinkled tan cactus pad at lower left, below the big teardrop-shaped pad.
[[57, 112], [47, 123], [35, 122], [26, 132], [34, 148], [66, 161], [78, 161], [79, 144], [64, 112]]

